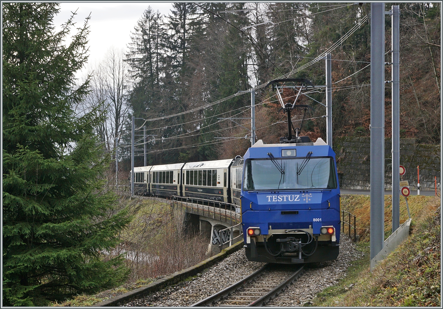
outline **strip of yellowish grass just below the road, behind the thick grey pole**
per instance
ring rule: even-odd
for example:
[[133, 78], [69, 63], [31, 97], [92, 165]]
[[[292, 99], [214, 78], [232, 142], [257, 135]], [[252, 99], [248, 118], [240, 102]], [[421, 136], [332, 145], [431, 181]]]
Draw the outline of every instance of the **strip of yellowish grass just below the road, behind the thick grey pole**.
[[[392, 196], [385, 195], [385, 239], [392, 231]], [[342, 195], [342, 210], [349, 211], [357, 217], [357, 234], [360, 241], [369, 241], [370, 197], [362, 195]], [[420, 219], [429, 210], [438, 207], [440, 198], [436, 196], [409, 196], [409, 211], [412, 219]], [[408, 219], [408, 210], [403, 196], [400, 196], [400, 223]], [[347, 222], [347, 218], [345, 221]], [[345, 233], [346, 233], [345, 226]], [[352, 232], [352, 231], [351, 231]]]

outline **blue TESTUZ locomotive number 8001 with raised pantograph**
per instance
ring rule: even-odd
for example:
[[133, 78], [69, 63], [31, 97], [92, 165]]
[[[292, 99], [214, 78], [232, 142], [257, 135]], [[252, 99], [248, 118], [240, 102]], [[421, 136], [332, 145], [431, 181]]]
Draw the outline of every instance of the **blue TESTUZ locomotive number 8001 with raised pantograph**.
[[[246, 257], [287, 264], [334, 260], [341, 223], [335, 153], [321, 138], [312, 143], [299, 136], [306, 111], [312, 108], [284, 104], [278, 85], [288, 83], [298, 85], [299, 93], [314, 87], [305, 79], [270, 82], [288, 113], [288, 135], [280, 137], [280, 144], [260, 140], [244, 156], [241, 222]], [[291, 123], [295, 108], [305, 111], [299, 128]]]

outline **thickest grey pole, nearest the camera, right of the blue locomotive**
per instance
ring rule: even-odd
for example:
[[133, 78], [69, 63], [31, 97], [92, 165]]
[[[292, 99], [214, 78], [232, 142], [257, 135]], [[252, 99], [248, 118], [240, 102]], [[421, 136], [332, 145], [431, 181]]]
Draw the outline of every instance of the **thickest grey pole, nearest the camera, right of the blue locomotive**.
[[385, 3], [371, 3], [371, 259], [385, 244]]

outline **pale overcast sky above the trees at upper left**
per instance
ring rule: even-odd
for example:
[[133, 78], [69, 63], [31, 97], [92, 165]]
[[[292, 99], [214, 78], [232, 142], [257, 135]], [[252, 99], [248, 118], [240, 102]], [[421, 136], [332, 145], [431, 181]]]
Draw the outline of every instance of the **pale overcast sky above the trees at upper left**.
[[[172, 8], [169, 2], [61, 2], [60, 12], [54, 17], [54, 25], [60, 26], [77, 10], [74, 21], [81, 27], [85, 18], [89, 20], [89, 64], [100, 62], [111, 47], [125, 49], [130, 42], [131, 31], [145, 9], [168, 15]], [[59, 27], [57, 29], [60, 29]], [[81, 75], [81, 74], [80, 74]], [[77, 75], [79, 77], [79, 74]]]

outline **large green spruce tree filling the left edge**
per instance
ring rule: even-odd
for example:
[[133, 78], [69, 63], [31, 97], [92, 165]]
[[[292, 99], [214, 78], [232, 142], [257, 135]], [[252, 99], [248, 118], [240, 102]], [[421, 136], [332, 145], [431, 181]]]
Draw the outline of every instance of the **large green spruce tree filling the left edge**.
[[128, 224], [104, 192], [109, 157], [72, 106], [88, 92], [88, 19], [55, 32], [54, 3], [3, 4], [3, 305], [47, 305], [114, 286], [121, 258], [103, 256]]

